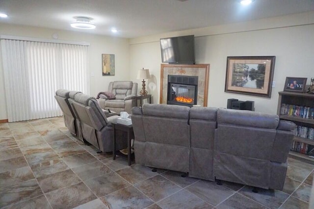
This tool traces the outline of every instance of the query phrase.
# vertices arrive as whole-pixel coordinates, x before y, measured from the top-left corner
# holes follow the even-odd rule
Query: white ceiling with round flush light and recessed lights
[[[134,38],[313,10],[314,0],[0,0],[8,15],[0,23]],[[76,16],[93,18],[96,29],[72,28]]]

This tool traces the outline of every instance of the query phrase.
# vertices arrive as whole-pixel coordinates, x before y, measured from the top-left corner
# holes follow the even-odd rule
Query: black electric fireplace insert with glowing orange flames
[[[197,76],[168,75],[167,104],[197,104]]]

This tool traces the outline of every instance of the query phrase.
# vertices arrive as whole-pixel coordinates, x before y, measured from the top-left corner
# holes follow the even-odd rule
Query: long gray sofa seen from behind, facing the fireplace
[[[135,162],[283,189],[295,124],[247,110],[144,104],[131,110]]]

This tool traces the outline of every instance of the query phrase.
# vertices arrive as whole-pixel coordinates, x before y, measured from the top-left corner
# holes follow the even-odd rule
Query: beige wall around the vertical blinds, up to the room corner
[[[96,97],[98,92],[106,91],[108,83],[111,80],[130,79],[128,39],[66,30],[54,30],[42,27],[0,24],[0,35],[52,39],[52,34],[54,33],[58,34],[59,40],[90,43],[90,94],[92,96]],[[115,76],[102,76],[102,53],[115,54]],[[7,112],[4,93],[3,66],[0,59],[0,120],[2,119],[7,119]]]

